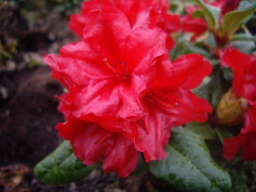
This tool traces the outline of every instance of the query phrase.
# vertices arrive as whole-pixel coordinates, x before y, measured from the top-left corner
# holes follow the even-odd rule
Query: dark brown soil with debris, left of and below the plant
[[[33,176],[35,164],[62,141],[55,126],[64,121],[55,98],[63,87],[50,77],[42,55],[58,53],[76,37],[67,28],[69,10],[40,4],[31,10],[6,2],[0,0],[0,192],[178,192],[149,172],[123,179],[98,168],[84,180],[62,186],[43,184]],[[232,162],[229,168],[240,191],[255,191],[256,173],[250,164]]]

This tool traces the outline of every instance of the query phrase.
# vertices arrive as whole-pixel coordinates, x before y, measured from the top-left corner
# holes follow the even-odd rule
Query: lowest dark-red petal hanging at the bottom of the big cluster
[[[128,177],[136,166],[139,152],[133,143],[121,134],[115,134],[114,146],[103,162],[106,173],[117,172],[120,177]]]

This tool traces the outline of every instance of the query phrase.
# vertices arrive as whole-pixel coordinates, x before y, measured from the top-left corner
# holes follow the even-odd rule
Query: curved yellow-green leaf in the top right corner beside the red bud
[[[234,10],[232,12],[228,12],[224,17],[222,32],[223,34],[232,35],[235,30],[239,27],[244,19],[250,17],[253,14],[256,8],[256,1],[253,3],[249,3],[248,1],[242,1],[240,3],[239,10]]]

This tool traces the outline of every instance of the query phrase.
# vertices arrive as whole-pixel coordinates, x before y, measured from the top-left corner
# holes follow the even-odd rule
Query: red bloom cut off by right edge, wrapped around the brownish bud
[[[237,49],[226,49],[221,55],[221,64],[230,67],[234,72],[232,89],[239,98],[248,102],[244,128],[241,134],[232,139],[225,139],[223,155],[226,159],[233,159],[239,147],[243,149],[243,158],[256,159],[256,150],[253,137],[256,134],[256,58],[241,53]]]

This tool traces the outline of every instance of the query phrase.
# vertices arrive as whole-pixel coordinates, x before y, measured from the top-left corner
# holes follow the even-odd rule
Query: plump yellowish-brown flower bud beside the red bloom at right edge
[[[234,90],[230,89],[222,98],[217,107],[217,121],[220,125],[236,125],[244,120],[248,110],[248,101],[238,98]]]

